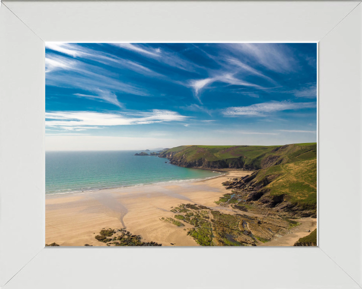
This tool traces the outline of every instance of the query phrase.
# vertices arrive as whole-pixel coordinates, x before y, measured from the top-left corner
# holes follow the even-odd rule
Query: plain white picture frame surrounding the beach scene
[[[360,3],[1,3],[0,287],[361,288]],[[46,41],[318,42],[318,247],[45,248]]]

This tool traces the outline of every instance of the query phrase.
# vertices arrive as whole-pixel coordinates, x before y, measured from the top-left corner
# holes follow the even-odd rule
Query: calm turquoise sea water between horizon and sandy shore
[[[163,158],[134,156],[135,153],[140,151],[46,152],[45,194],[185,182],[220,175],[171,165]]]

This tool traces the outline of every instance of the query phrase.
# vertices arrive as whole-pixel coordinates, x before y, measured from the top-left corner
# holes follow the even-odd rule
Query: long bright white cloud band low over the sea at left
[[[102,113],[94,111],[54,111],[45,113],[48,127],[77,130],[98,128],[99,126],[150,124],[168,121],[185,121],[188,116],[164,109],[150,111],[127,111],[122,113]],[[73,129],[75,128],[75,129]]]

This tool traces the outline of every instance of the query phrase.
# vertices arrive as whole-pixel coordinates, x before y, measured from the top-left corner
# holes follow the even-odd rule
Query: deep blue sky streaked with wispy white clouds
[[[317,44],[46,43],[46,150],[317,139]]]

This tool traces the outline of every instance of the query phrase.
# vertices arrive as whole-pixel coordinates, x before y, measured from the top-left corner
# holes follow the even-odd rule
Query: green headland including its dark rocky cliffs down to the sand
[[[180,146],[159,154],[170,164],[186,168],[254,171],[224,182],[232,193],[220,206],[259,210],[269,215],[316,217],[317,145]],[[228,196],[226,196],[228,195]],[[233,195],[233,197],[231,197]]]

